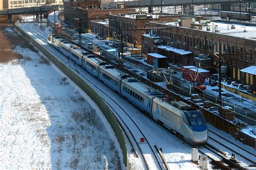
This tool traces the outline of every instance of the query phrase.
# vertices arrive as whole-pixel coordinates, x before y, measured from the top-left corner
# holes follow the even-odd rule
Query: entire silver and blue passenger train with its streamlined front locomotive
[[[59,43],[54,43],[56,39]],[[160,125],[191,144],[206,144],[207,125],[199,110],[195,110],[183,101],[166,98],[162,92],[58,36],[48,35],[48,43]]]

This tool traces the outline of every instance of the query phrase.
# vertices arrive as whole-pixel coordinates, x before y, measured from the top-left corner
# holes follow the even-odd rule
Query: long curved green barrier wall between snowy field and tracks
[[[114,117],[113,113],[110,111],[109,107],[107,107],[106,103],[103,99],[88,85],[85,81],[77,75],[75,72],[71,71],[66,65],[60,62],[57,58],[55,58],[49,51],[44,49],[44,47],[39,44],[35,39],[30,37],[26,32],[24,32],[19,26],[19,21],[15,23],[15,29],[18,30],[26,39],[28,39],[33,45],[37,47],[39,51],[41,51],[51,62],[58,67],[66,76],[68,76],[76,85],[78,85],[99,107],[99,109],[104,114],[107,121],[111,125],[114,134],[117,137],[117,140],[120,144],[120,148],[122,149],[123,153],[123,163],[127,169],[129,169],[129,162],[127,158],[127,148],[125,143],[125,138],[121,127],[119,126],[116,118]]]

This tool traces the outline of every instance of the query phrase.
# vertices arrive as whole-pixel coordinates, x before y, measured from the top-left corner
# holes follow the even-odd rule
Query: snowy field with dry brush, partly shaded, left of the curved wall
[[[39,53],[15,51],[22,59],[0,63],[0,169],[122,168],[90,98]]]

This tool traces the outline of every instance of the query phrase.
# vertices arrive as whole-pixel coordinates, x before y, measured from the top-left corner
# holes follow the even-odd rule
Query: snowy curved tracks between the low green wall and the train
[[[66,65],[68,65],[69,67],[71,67],[75,72],[77,72],[80,76],[82,76],[84,79],[86,79],[86,81],[88,81],[89,83],[91,83],[93,86],[95,86],[101,93],[103,93],[105,95],[105,97],[107,97],[108,99],[104,99],[102,98],[105,103],[111,108],[111,110],[113,111],[115,117],[117,118],[117,120],[119,121],[119,124],[122,126],[127,138],[129,139],[132,149],[134,151],[134,153],[136,154],[136,156],[141,155],[142,159],[144,160],[144,165],[146,166],[147,169],[150,169],[150,164],[149,161],[150,159],[147,158],[145,156],[144,153],[149,153],[149,150],[152,152],[151,156],[153,158],[153,160],[155,161],[154,164],[156,165],[156,168],[158,169],[168,169],[168,167],[164,167],[163,162],[161,162],[161,160],[163,160],[163,157],[160,157],[158,155],[157,151],[154,151],[153,147],[150,145],[149,141],[147,140],[146,136],[144,135],[144,133],[140,130],[140,128],[138,127],[138,125],[135,123],[135,121],[130,117],[130,115],[122,108],[122,106],[120,106],[118,103],[116,103],[116,101],[114,101],[110,96],[108,96],[104,91],[102,91],[101,89],[99,89],[98,86],[96,86],[94,83],[92,83],[89,79],[87,79],[86,77],[83,76],[83,74],[81,74],[75,63],[69,61],[69,59],[67,59],[66,57],[60,57],[59,55],[56,55],[56,53],[60,53],[59,51],[57,51],[56,49],[54,49],[53,47],[48,45],[47,42],[47,34],[45,32],[42,32],[41,30],[35,31],[36,28],[35,26],[32,26],[33,29],[29,28],[29,25],[31,23],[28,23],[24,26],[24,28],[28,31],[30,31],[34,36],[36,36],[37,38],[39,38],[40,40],[37,40],[39,43],[42,44],[42,42],[46,43],[46,45],[44,46],[45,49],[47,49],[49,52],[51,52],[55,57],[59,58],[60,60],[62,60],[62,62],[64,62]],[[63,59],[64,58],[64,59]],[[73,63],[73,66],[70,65],[70,63]],[[119,114],[118,111],[116,111],[115,108],[113,108],[111,106],[111,103],[109,100],[112,100],[112,102],[114,102],[119,108],[120,110],[122,110],[123,113],[126,114],[126,119],[124,120],[123,115],[121,116]],[[130,123],[129,126],[127,125],[127,120],[130,119]],[[133,124],[133,125],[132,125]],[[131,127],[133,126],[133,127]],[[134,129],[136,130],[137,133],[134,133]],[[133,132],[132,132],[133,131]],[[138,133],[139,132],[139,133]],[[136,135],[134,135],[136,134]],[[138,142],[138,136],[142,137],[145,139],[145,142]],[[136,138],[137,137],[137,138]],[[132,141],[133,140],[133,141]],[[134,144],[136,146],[134,146]],[[145,147],[145,145],[147,147]],[[152,161],[152,160],[151,160]],[[151,162],[152,165],[152,162]]]

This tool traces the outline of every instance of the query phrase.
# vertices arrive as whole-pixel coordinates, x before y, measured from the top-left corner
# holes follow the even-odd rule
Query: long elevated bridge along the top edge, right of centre
[[[202,5],[202,4],[233,4],[252,3],[255,0],[126,0],[118,2],[103,3],[103,6],[116,8],[117,3],[124,3],[127,8],[155,7],[155,6],[175,6],[175,5]],[[162,4],[162,5],[161,5]]]

